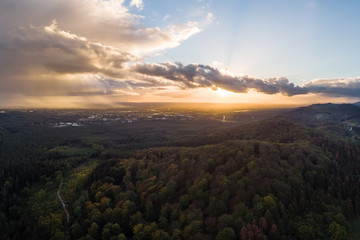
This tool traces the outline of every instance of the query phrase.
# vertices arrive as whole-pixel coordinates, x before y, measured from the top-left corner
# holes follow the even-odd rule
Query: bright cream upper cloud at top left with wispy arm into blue
[[[131,5],[141,7],[142,1],[133,0]],[[203,14],[199,22],[159,28],[146,27],[144,17],[129,13],[123,0],[2,0],[0,35],[18,26],[46,26],[56,19],[61,29],[92,42],[143,54],[178,46],[200,32],[211,20]]]

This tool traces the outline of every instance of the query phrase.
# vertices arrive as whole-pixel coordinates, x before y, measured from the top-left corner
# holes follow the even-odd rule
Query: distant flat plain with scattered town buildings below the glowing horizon
[[[246,123],[275,116],[286,109],[253,110],[239,107],[226,110],[201,108],[129,106],[124,109],[0,109],[0,118],[9,121],[26,120],[31,125],[48,125],[54,128],[92,125],[134,124],[151,121],[218,121]],[[12,119],[12,120],[11,120]]]

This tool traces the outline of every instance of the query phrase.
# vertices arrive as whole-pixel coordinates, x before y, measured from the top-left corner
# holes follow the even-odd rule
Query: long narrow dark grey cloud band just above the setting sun
[[[178,82],[182,88],[208,87],[214,90],[222,88],[236,93],[255,89],[266,94],[282,93],[288,96],[308,93],[306,88],[294,86],[286,78],[261,80],[249,76],[232,76],[208,65],[139,64],[134,67],[134,71],[146,76],[162,77]]]

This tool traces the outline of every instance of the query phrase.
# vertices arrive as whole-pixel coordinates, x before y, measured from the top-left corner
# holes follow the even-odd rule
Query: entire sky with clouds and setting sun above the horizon
[[[360,100],[359,1],[1,0],[0,107]]]

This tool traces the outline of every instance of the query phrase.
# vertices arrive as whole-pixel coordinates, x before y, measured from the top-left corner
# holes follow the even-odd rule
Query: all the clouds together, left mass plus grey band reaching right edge
[[[201,32],[213,15],[203,12],[199,21],[147,27],[130,7],[140,11],[146,6],[141,0],[128,6],[123,0],[1,1],[0,94],[136,99],[151,91],[221,88],[285,96],[360,96],[360,78],[295,86],[285,77],[236,76],[209,65],[147,63],[146,54],[178,46]]]

